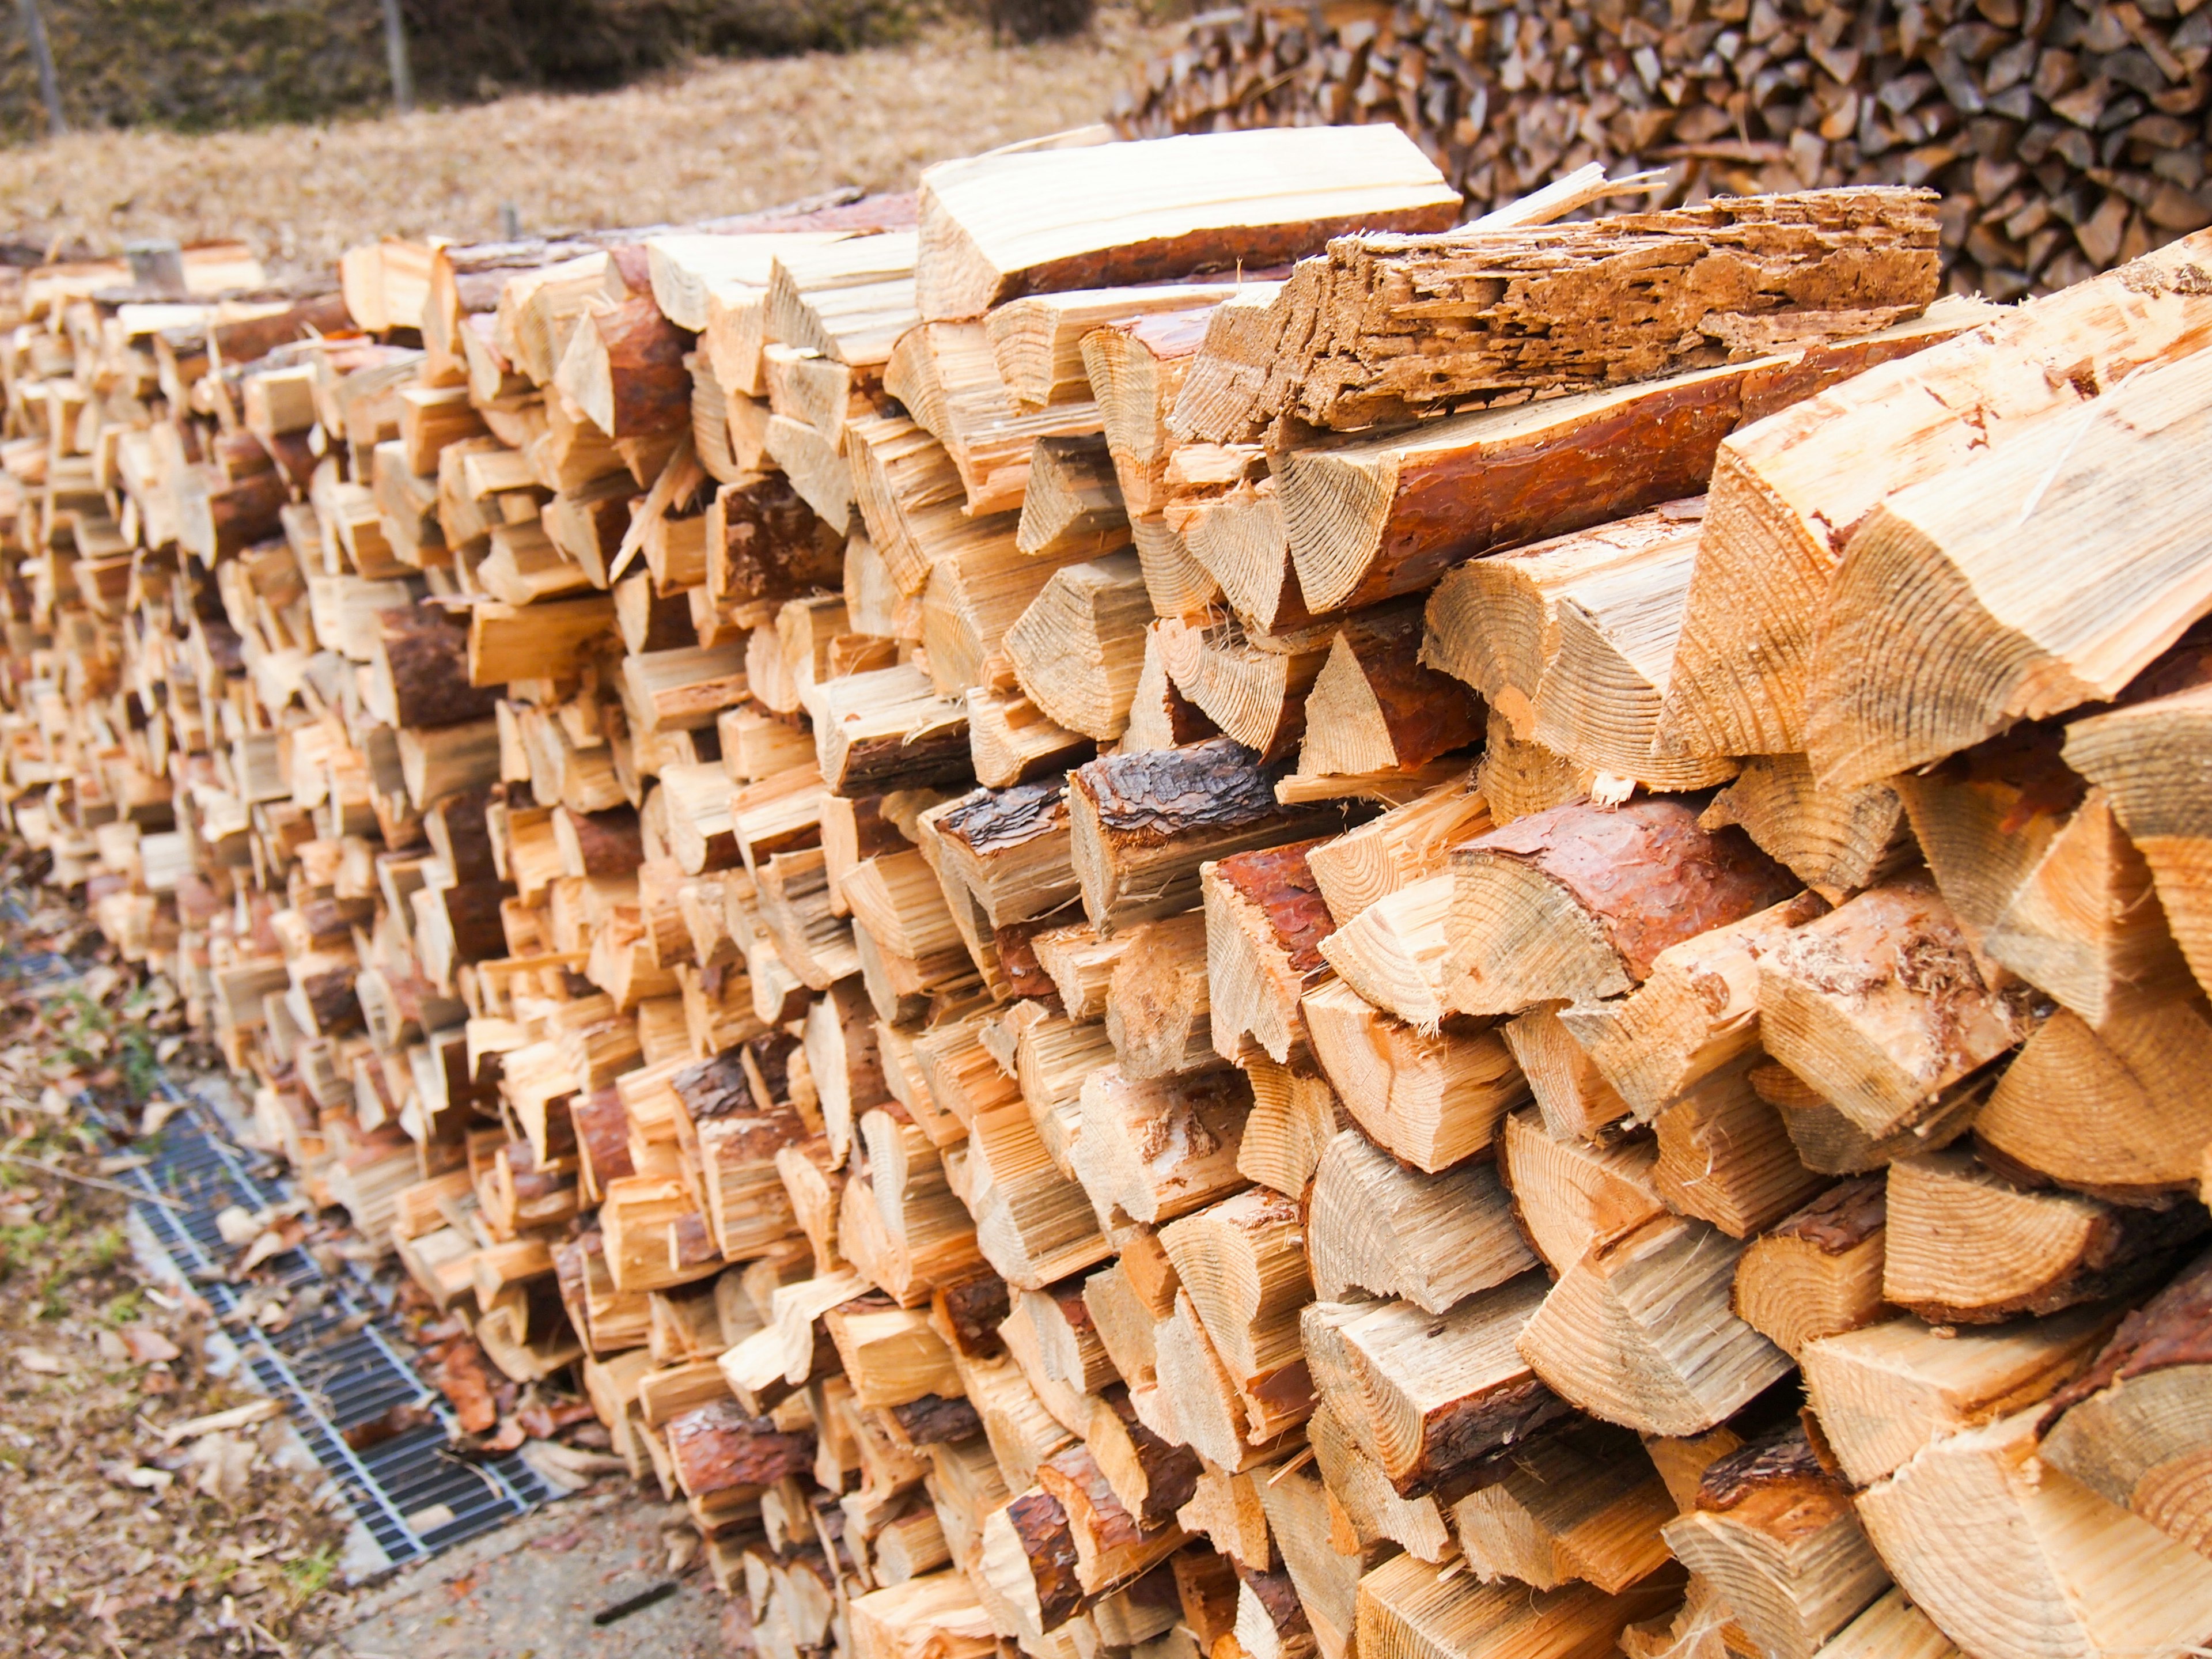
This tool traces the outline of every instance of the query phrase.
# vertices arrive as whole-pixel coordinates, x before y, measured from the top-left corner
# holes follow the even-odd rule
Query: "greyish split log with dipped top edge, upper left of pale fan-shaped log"
[[[1431,1314],[1535,1265],[1493,1166],[1418,1175],[1358,1130],[1321,1155],[1305,1252],[1321,1301],[1402,1296]]]

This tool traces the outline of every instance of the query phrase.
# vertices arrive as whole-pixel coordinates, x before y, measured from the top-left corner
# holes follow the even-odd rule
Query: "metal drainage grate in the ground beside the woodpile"
[[[221,1316],[239,1305],[241,1287],[219,1276],[232,1250],[215,1217],[232,1203],[248,1210],[281,1203],[292,1197],[290,1183],[257,1177],[206,1102],[179,1093],[168,1079],[159,1088],[184,1106],[144,1148],[153,1161],[126,1179],[190,1208],[133,1203],[131,1210]],[[201,1276],[201,1270],[212,1272]],[[385,1566],[436,1555],[560,1495],[513,1453],[467,1462],[447,1451],[451,1413],[403,1358],[383,1323],[385,1310],[365,1307],[305,1250],[270,1259],[268,1270],[294,1294],[319,1287],[321,1301],[281,1332],[248,1327],[237,1336],[239,1349],[261,1387],[290,1405],[292,1427],[345,1493]],[[345,1429],[409,1402],[429,1407],[436,1422],[367,1451],[354,1451],[341,1438]]]

